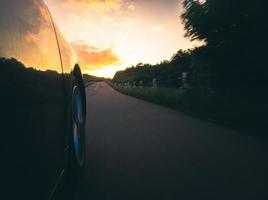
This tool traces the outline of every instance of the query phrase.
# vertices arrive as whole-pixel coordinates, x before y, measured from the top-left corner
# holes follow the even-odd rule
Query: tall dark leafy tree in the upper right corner
[[[186,37],[207,43],[213,87],[224,93],[262,87],[268,74],[266,4],[261,0],[185,0]],[[261,83],[261,84],[260,84]],[[236,93],[236,91],[233,91]]]

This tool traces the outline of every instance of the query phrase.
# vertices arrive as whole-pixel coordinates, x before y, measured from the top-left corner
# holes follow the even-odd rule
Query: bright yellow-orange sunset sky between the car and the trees
[[[182,0],[45,0],[83,73],[112,78],[197,46],[184,38]]]

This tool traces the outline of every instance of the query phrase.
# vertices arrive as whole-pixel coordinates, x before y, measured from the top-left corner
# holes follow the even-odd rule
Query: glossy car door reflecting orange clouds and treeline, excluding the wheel
[[[66,98],[43,1],[2,0],[0,40],[1,189],[47,199],[64,173]]]

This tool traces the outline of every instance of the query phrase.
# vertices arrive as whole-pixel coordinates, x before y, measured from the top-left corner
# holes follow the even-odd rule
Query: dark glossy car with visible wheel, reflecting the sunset
[[[54,199],[85,168],[82,72],[42,0],[0,4],[0,199]]]

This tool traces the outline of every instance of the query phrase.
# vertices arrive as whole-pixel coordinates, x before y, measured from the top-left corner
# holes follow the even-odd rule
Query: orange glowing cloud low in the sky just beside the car
[[[82,41],[73,42],[72,47],[77,53],[83,70],[96,70],[106,66],[118,66],[121,63],[120,58],[114,54],[112,48],[100,50]]]

